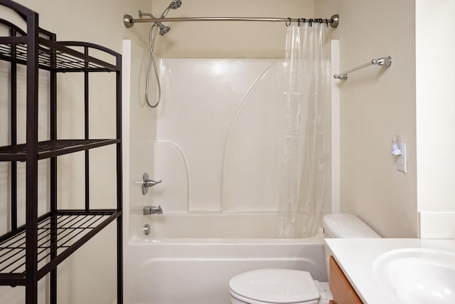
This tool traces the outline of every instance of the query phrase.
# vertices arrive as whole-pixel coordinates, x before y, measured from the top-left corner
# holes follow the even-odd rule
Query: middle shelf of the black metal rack
[[[119,142],[120,140],[47,140],[45,142],[38,142],[38,159],[57,157],[63,154],[113,145]],[[0,147],[0,161],[24,162],[26,156],[26,144]]]

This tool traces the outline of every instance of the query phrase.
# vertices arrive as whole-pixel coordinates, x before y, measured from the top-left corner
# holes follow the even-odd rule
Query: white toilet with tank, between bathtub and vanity
[[[352,214],[327,214],[322,221],[325,238],[380,238]],[[314,281],[308,271],[291,269],[240,273],[230,279],[229,289],[231,304],[326,304],[331,299],[328,283]]]

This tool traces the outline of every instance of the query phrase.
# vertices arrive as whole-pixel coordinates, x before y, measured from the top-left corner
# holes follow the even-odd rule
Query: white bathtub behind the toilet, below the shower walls
[[[314,279],[326,281],[323,236],[272,239],[276,231],[270,226],[277,224],[276,218],[272,214],[146,217],[151,219],[152,237],[139,233],[125,246],[125,303],[227,304],[230,278],[257,268],[306,270]],[[238,238],[244,229],[254,239]]]

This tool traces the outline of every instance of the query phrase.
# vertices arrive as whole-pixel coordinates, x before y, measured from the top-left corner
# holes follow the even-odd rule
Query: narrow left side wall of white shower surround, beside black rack
[[[144,172],[151,173],[155,142],[155,111],[146,105],[144,85],[148,54],[146,48],[134,41],[123,41],[122,59],[122,150],[123,150],[123,221],[127,228],[127,242],[141,229],[144,205],[150,205],[149,196],[142,195]],[[125,252],[125,259],[127,259]]]

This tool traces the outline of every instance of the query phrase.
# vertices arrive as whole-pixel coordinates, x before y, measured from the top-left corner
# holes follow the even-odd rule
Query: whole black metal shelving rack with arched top
[[[0,285],[24,285],[26,303],[38,303],[38,281],[50,274],[50,303],[57,303],[57,271],[80,246],[108,224],[117,221],[117,303],[123,303],[122,291],[122,86],[119,53],[92,43],[56,41],[54,33],[38,26],[38,14],[20,4],[0,0],[0,10],[15,11],[26,28],[0,19],[0,61],[10,63],[10,145],[0,147],[0,162],[10,162],[10,229],[0,236]],[[92,55],[95,53],[96,55]],[[26,142],[17,142],[18,65],[26,67]],[[38,70],[49,72],[49,139],[38,141]],[[58,138],[57,74],[84,73],[85,136],[82,139]],[[115,73],[116,137],[89,137],[89,75]],[[114,88],[114,87],[113,87]],[[90,206],[90,150],[116,147],[117,201],[112,209]],[[57,159],[60,155],[85,152],[85,204],[77,210],[58,209]],[[38,201],[38,160],[49,161],[49,201]],[[17,162],[26,163],[26,224],[18,226]],[[38,204],[48,204],[48,212],[38,214]]]

